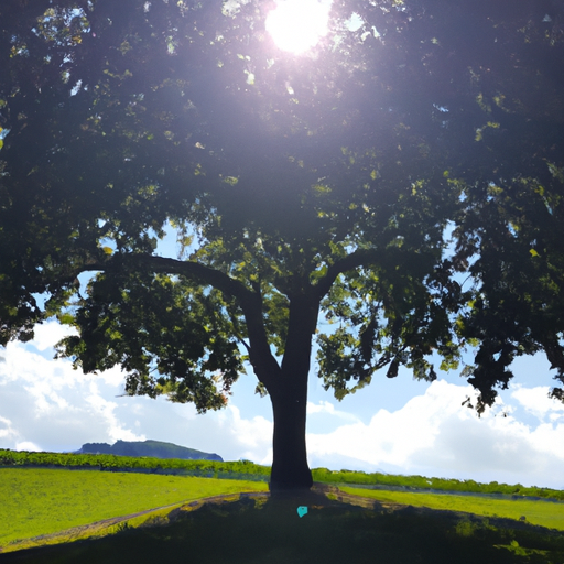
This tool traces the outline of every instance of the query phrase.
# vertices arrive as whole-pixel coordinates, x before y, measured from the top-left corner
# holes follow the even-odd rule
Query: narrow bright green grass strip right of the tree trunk
[[[340,489],[355,496],[413,507],[465,511],[478,516],[505,517],[509,519],[519,519],[524,516],[531,524],[540,524],[564,531],[564,503],[562,502],[494,499],[479,496],[451,496],[444,494],[412,494],[348,487],[341,487]]]

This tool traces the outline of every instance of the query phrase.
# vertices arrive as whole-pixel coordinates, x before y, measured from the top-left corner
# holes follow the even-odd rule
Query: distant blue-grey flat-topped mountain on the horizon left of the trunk
[[[153,458],[224,462],[217,454],[203,453],[202,451],[161,441],[118,441],[113,445],[108,443],[85,443],[74,454],[115,454],[117,456],[151,456]]]

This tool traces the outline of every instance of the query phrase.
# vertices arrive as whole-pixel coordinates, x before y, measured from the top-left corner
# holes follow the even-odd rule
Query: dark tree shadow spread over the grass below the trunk
[[[300,517],[299,506],[307,513]],[[564,563],[564,533],[424,508],[373,509],[324,495],[267,496],[174,510],[167,524],[0,555],[65,563]]]

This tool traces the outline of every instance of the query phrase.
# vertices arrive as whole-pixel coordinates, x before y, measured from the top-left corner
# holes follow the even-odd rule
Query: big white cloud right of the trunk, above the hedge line
[[[392,413],[379,410],[369,424],[310,434],[311,458],[332,467],[343,458],[401,474],[563,487],[564,425],[529,427],[498,401],[480,419],[460,404],[471,387],[433,382],[423,395]],[[541,413],[541,412],[540,412]],[[336,468],[335,468],[336,469]]]

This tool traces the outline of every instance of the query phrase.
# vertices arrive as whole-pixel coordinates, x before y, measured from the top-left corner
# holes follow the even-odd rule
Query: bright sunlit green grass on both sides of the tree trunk
[[[485,517],[519,519],[543,527],[564,530],[564,503],[532,500],[508,500],[477,496],[456,496],[386,491],[341,486],[347,494],[438,510],[464,511]],[[65,470],[43,468],[0,469],[0,547],[22,549],[35,541],[10,545],[17,540],[58,533],[89,525],[105,519],[117,518],[160,508],[176,506],[204,497],[267,491],[265,482],[166,476],[96,470]],[[235,498],[237,499],[237,498]],[[166,516],[171,507],[151,514],[153,519]],[[130,518],[128,524],[137,527],[149,516]],[[302,520],[300,520],[302,527]],[[88,535],[116,532],[120,524],[105,525],[102,531],[88,530]],[[78,538],[65,533],[48,542],[67,542]],[[83,533],[80,533],[83,534]],[[83,538],[83,536],[80,536]],[[41,541],[43,543],[45,541]]]

